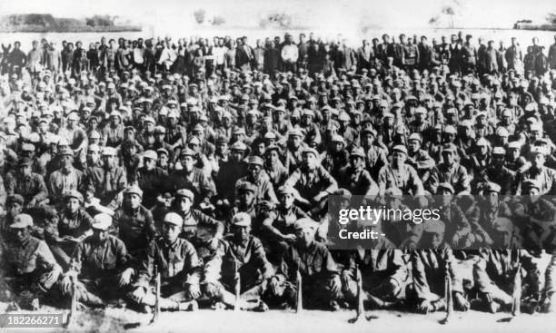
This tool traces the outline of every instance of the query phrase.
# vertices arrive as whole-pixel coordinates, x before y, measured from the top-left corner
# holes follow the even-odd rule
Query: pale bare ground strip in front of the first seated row
[[[5,304],[0,304],[4,312]],[[25,311],[22,311],[24,313]],[[67,310],[43,307],[39,313]],[[556,314],[521,314],[511,318],[510,313],[489,314],[478,311],[455,312],[445,325],[440,321],[445,313],[427,316],[398,311],[367,311],[370,320],[351,324],[355,311],[326,312],[306,310],[301,314],[271,310],[264,313],[214,311],[201,309],[195,312],[162,312],[154,325],[147,325],[152,315],[138,314],[130,309],[84,310],[79,314],[74,328],[0,328],[0,332],[556,332]],[[510,319],[511,318],[511,319]],[[141,323],[136,328],[128,328]]]

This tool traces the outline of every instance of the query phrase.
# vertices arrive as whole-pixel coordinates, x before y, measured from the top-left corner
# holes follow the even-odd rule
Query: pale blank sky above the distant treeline
[[[454,0],[0,0],[0,13],[50,13],[64,17],[93,14],[125,15],[144,24],[172,25],[191,21],[194,9],[223,15],[228,24],[250,25],[271,10],[302,17],[313,27],[333,24],[376,23],[383,27],[423,27]],[[554,0],[459,0],[455,25],[462,27],[511,27],[518,19],[543,21],[556,13]]]

